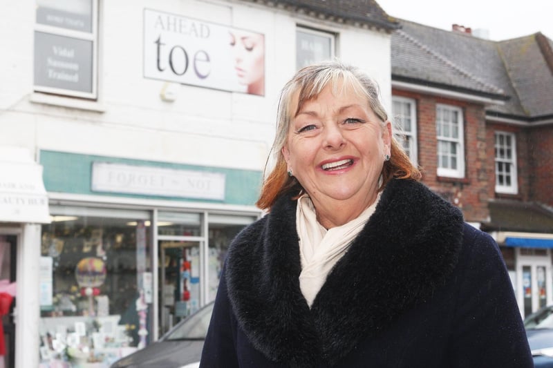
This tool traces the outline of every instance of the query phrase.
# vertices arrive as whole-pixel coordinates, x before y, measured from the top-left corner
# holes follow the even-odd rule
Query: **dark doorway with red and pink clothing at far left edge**
[[[17,235],[3,235],[0,229],[0,318],[3,327],[1,348],[5,352],[0,359],[4,367],[15,367],[15,279],[17,275]],[[8,294],[8,295],[6,295]],[[8,304],[9,303],[9,304]]]

